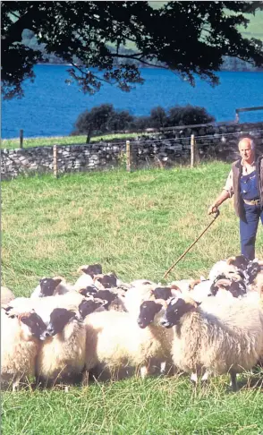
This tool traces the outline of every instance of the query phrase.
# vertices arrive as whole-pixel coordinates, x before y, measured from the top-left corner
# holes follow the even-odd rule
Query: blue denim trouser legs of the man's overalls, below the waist
[[[244,209],[246,222],[240,220],[241,250],[247,259],[254,260],[259,217],[263,223],[263,212],[259,206],[254,205],[244,204]]]

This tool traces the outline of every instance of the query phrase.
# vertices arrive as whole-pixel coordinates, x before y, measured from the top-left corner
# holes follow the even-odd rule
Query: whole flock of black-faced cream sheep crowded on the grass
[[[74,285],[40,279],[30,298],[1,287],[2,386],[184,371],[194,382],[229,373],[236,390],[236,373],[263,358],[263,261],[231,257],[208,279],[165,286],[79,271]]]

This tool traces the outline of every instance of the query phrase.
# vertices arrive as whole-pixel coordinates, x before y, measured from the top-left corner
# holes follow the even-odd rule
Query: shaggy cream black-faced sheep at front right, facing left
[[[263,352],[262,312],[252,304],[235,301],[225,306],[225,316],[202,311],[197,303],[173,298],[161,320],[174,327],[173,361],[182,371],[194,374],[231,375],[237,389],[236,373],[250,370]]]

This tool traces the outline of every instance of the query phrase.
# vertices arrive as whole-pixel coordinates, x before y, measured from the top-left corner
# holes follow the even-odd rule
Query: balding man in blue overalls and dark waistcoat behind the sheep
[[[253,260],[259,218],[263,224],[263,156],[255,161],[255,144],[250,138],[243,138],[238,148],[241,158],[233,162],[225,187],[208,214],[216,213],[222,202],[234,195],[234,209],[240,218],[242,254]]]

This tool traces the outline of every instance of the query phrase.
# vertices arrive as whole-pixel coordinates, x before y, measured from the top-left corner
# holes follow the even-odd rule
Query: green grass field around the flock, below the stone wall
[[[124,281],[161,280],[208,226],[207,209],[229,165],[19,178],[2,182],[2,285],[30,295],[43,276],[74,282],[81,264],[100,262]],[[229,200],[168,280],[208,275],[239,253],[238,219]],[[257,255],[263,258],[259,228]],[[4,435],[175,435],[263,433],[262,389],[247,374],[232,393],[228,377],[193,388],[188,377],[91,383],[5,392]],[[261,372],[262,379],[262,372]],[[251,381],[250,383],[249,380]]]

